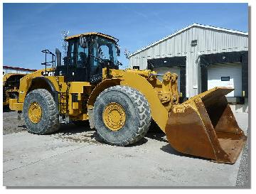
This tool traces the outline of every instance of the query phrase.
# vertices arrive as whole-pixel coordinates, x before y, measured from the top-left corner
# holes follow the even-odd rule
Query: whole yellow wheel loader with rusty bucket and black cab
[[[43,50],[45,68],[23,77],[18,99],[9,101],[28,131],[48,134],[60,123],[89,120],[107,144],[127,146],[153,119],[177,151],[235,163],[247,137],[225,98],[233,89],[215,87],[180,104],[175,73],[119,70],[117,38],[83,33],[65,41],[64,64],[58,49]]]

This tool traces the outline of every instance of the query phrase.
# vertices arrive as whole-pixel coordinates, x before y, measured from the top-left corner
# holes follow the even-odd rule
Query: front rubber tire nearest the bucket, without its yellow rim
[[[107,104],[120,104],[126,115],[124,126],[112,131],[105,125],[102,114]],[[93,108],[93,119],[97,134],[107,144],[127,146],[144,137],[149,130],[151,113],[149,102],[144,95],[132,87],[114,86],[104,90],[96,99]]]

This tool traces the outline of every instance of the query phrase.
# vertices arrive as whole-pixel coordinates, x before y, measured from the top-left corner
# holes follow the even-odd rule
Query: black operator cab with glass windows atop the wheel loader
[[[64,65],[57,65],[56,75],[64,75],[65,82],[102,80],[102,68],[118,69],[119,46],[117,38],[102,33],[85,33],[65,38],[68,52]],[[57,55],[58,63],[58,55]]]

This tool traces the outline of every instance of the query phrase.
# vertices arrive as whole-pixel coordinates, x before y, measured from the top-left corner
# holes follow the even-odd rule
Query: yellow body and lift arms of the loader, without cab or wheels
[[[179,99],[176,74],[166,72],[161,82],[156,78],[156,72],[151,70],[110,70],[111,78],[107,78],[106,68],[102,71],[103,79],[98,85],[90,85],[90,82],[64,82],[63,76],[43,76],[44,70],[32,72],[21,79],[18,99],[10,100],[10,108],[22,111],[22,104],[28,92],[39,88],[49,88],[48,82],[50,82],[58,92],[58,99],[63,103],[59,107],[60,114],[68,113],[72,119],[87,120],[90,113],[82,112],[82,109],[93,109],[97,96],[103,90],[114,85],[126,85],[142,92],[151,104],[151,116],[160,128],[165,130],[169,109],[172,104],[178,104]],[[38,77],[43,77],[43,80],[36,79],[35,81]],[[72,95],[77,96],[77,102],[72,102]],[[84,95],[88,95],[88,99],[85,99]],[[67,99],[68,103],[65,103]],[[82,101],[85,100],[87,107],[82,107]]]

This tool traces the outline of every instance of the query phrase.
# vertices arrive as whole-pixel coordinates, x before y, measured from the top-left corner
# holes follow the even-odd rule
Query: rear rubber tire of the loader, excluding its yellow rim
[[[31,122],[28,117],[28,109],[33,102],[38,102],[42,109],[41,120],[38,123]],[[45,89],[37,89],[28,93],[23,104],[23,118],[27,130],[33,134],[50,134],[59,129],[58,107],[53,96]]]

